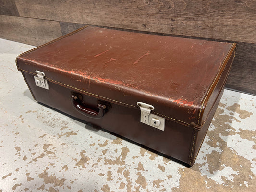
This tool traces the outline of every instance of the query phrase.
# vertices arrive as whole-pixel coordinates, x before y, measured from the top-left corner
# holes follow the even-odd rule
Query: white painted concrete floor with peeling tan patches
[[[255,192],[256,96],[225,90],[186,168],[32,99],[0,39],[0,192]]]

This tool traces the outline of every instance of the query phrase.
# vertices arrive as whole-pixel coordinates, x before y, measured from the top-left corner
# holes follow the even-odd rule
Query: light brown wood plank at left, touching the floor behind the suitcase
[[[59,22],[0,15],[0,38],[39,46],[60,36]]]

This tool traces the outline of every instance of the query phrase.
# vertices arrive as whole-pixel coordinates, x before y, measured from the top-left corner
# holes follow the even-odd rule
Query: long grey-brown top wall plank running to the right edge
[[[256,43],[255,0],[15,2],[24,17]]]

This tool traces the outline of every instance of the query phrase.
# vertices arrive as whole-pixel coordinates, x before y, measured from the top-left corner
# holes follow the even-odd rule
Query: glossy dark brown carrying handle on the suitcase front
[[[104,116],[105,114],[104,109],[106,109],[105,105],[102,105],[99,103],[97,106],[99,111],[97,112],[91,108],[86,108],[85,105],[82,103],[82,101],[79,100],[78,96],[71,94],[70,97],[71,97],[74,108],[81,114],[85,115],[86,117],[99,119]]]

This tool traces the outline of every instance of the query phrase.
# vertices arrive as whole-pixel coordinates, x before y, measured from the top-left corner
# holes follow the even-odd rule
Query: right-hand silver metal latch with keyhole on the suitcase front
[[[142,102],[137,102],[137,105],[140,107],[140,122],[164,131],[165,119],[151,113],[154,106]]]

